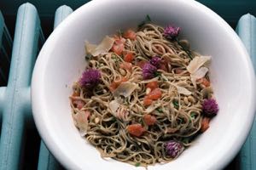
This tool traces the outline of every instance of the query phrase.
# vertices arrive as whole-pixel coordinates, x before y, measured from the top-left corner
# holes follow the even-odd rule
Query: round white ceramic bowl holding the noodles
[[[184,0],[94,0],[73,12],[50,35],[32,75],[32,111],[38,131],[68,169],[144,169],[105,161],[73,125],[68,96],[84,71],[84,40],[100,42],[135,27],[146,14],[162,26],[181,26],[181,37],[212,55],[211,80],[220,111],[211,127],[177,160],[148,169],[220,169],[240,150],[254,116],[254,74],[246,49],[230,26],[209,8]]]

